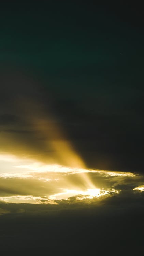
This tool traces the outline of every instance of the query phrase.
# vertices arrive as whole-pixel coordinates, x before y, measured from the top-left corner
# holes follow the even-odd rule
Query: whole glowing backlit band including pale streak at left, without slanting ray
[[[65,202],[68,205],[75,198],[77,203],[92,204],[124,191],[144,191],[141,185],[144,177],[138,173],[45,164],[4,153],[0,155],[0,162],[4,170],[5,165],[9,167],[9,171],[0,173],[3,203],[59,205]]]

